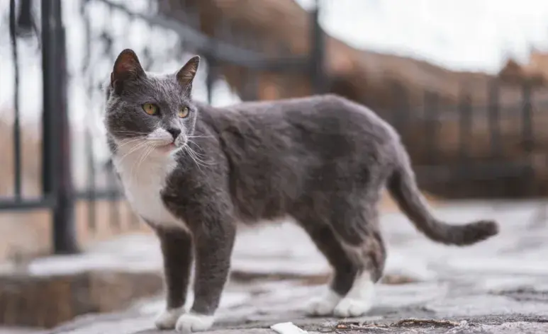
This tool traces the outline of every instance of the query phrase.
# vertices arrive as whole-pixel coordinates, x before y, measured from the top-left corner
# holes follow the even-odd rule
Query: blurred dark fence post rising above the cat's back
[[[311,13],[311,78],[313,93],[321,94],[327,91],[325,77],[325,33],[320,26],[320,1],[315,0]]]

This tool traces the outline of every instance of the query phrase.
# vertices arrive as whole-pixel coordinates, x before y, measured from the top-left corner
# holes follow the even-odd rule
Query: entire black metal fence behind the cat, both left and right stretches
[[[77,20],[84,31],[84,52],[82,63],[76,73],[67,70],[67,38],[62,16],[61,0],[40,1],[40,29],[35,25],[38,16],[33,16],[31,8],[38,8],[38,1],[10,0],[9,28],[13,50],[14,74],[14,117],[13,117],[13,195],[0,197],[0,210],[47,208],[53,217],[53,245],[55,253],[73,253],[78,250],[74,229],[74,207],[76,202],[86,203],[86,224],[96,229],[98,219],[96,205],[106,201],[109,205],[108,220],[112,226],[121,224],[121,219],[130,219],[138,224],[134,216],[123,215],[125,202],[106,161],[97,154],[96,134],[85,127],[84,137],[76,138],[84,142],[83,159],[86,178],[83,184],[74,184],[74,169],[71,168],[72,124],[69,123],[67,87],[77,80],[85,91],[85,100],[79,107],[86,113],[100,113],[104,100],[100,86],[111,71],[116,55],[125,47],[132,47],[142,59],[147,70],[162,70],[169,62],[181,62],[181,54],[192,52],[201,54],[205,59],[205,71],[201,70],[203,91],[210,103],[215,102],[218,84],[223,78],[220,69],[234,65],[241,69],[242,87],[237,91],[242,100],[257,98],[257,73],[295,73],[310,79],[313,92],[323,93],[330,90],[330,78],[324,70],[325,33],[318,21],[320,8],[316,6],[311,16],[310,52],[305,56],[296,56],[281,48],[278,52],[264,52],[254,47],[254,41],[231,33],[225,22],[219,22],[219,28],[213,35],[206,35],[198,28],[200,16],[198,9],[187,1],[113,1],[81,0]],[[32,6],[34,4],[34,6]],[[173,4],[177,4],[174,6]],[[160,6],[161,5],[161,6]],[[162,7],[164,6],[164,7]],[[169,7],[165,7],[169,6]],[[169,12],[167,16],[165,13]],[[99,22],[97,22],[99,21]],[[19,64],[17,42],[23,38],[24,31],[40,30],[40,50],[42,57],[43,80],[43,118],[41,134],[42,190],[38,198],[29,198],[21,186],[21,124],[19,115]],[[36,33],[38,37],[38,33]],[[133,43],[132,36],[138,35]],[[136,41],[136,42],[135,42]],[[160,41],[160,42],[159,42]],[[74,41],[71,41],[74,42]],[[517,180],[518,183],[533,185],[535,180],[535,161],[531,154],[535,149],[535,116],[546,113],[542,105],[532,103],[533,87],[522,85],[522,98],[518,105],[505,107],[499,103],[498,82],[486,87],[488,103],[472,105],[469,95],[462,94],[453,105],[442,105],[436,93],[425,92],[420,112],[409,102],[409,92],[405,86],[395,84],[392,98],[396,107],[378,112],[391,122],[401,133],[403,142],[408,144],[413,158],[416,158],[417,172],[421,185],[427,190],[443,192],[447,187],[463,187],[463,193],[470,196],[466,185],[485,183],[489,192],[474,190],[478,195],[493,195],[491,183],[502,183],[501,187],[514,187],[501,180]],[[99,101],[99,102],[98,102]],[[369,104],[369,101],[359,101]],[[548,101],[547,101],[548,102]],[[371,103],[371,107],[375,107]],[[548,103],[546,105],[548,107]],[[536,110],[535,110],[536,109]],[[377,111],[377,110],[376,110]],[[336,112],[336,111],[334,111]],[[503,159],[502,151],[508,150],[503,138],[503,123],[510,122],[512,138],[510,146],[519,146],[516,159]],[[515,125],[520,122],[520,125]],[[450,126],[447,127],[447,124]],[[474,127],[485,124],[486,142],[474,139]],[[515,132],[515,129],[519,129]],[[448,136],[454,140],[441,138]],[[471,140],[476,142],[471,142]],[[422,140],[422,144],[417,144]],[[483,139],[482,139],[483,140]],[[441,144],[440,144],[441,143]],[[443,144],[446,143],[446,144]],[[449,143],[449,144],[447,144]],[[478,146],[487,146],[486,156],[475,156]],[[512,146],[513,147],[513,146]],[[485,152],[483,152],[485,153]],[[491,187],[491,188],[490,188]],[[468,190],[466,190],[466,189]],[[526,187],[518,190],[499,189],[501,194],[519,195]],[[475,188],[477,189],[477,188]],[[525,191],[527,192],[527,191]],[[454,194],[454,192],[452,192]],[[530,192],[528,192],[530,193]]]

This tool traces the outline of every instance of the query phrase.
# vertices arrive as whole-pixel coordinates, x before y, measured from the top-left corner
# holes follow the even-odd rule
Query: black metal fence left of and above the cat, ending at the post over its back
[[[174,3],[177,1],[174,1]],[[142,58],[145,69],[161,69],[162,65],[171,59],[181,62],[183,52],[201,54],[206,64],[206,93],[211,103],[214,98],[215,85],[220,80],[217,65],[234,64],[247,69],[246,87],[241,91],[246,99],[256,96],[253,91],[254,71],[291,71],[305,74],[313,78],[315,87],[322,86],[322,39],[323,32],[318,24],[319,8],[309,14],[313,21],[311,43],[313,52],[306,57],[292,56],[291,54],[265,54],[260,50],[242,47],[235,42],[237,36],[227,35],[220,31],[220,36],[208,36],[201,33],[196,8],[184,6],[170,8],[179,11],[184,20],[174,20],[157,11],[157,1],[110,1],[110,0],[82,0],[80,2],[80,18],[84,23],[85,50],[81,72],[77,76],[84,78],[86,89],[87,110],[96,112],[97,101],[104,100],[101,95],[101,84],[104,83],[111,70],[114,59],[120,50],[128,45],[125,40],[133,29],[143,29],[150,33],[148,38],[140,35],[141,45],[130,45]],[[139,3],[139,4],[136,4]],[[121,207],[125,206],[121,199],[121,191],[107,166],[106,161],[98,161],[94,152],[96,138],[89,127],[84,131],[86,151],[87,180],[85,185],[78,187],[73,184],[71,169],[71,137],[69,126],[69,110],[67,107],[67,38],[60,0],[42,0],[40,6],[36,1],[10,0],[10,35],[13,50],[14,81],[14,122],[13,122],[13,183],[14,192],[11,197],[0,197],[0,209],[28,210],[47,208],[52,210],[53,217],[53,247],[55,253],[74,253],[78,250],[77,238],[74,229],[74,206],[79,200],[86,201],[87,224],[89,229],[96,228],[96,202],[107,200],[110,202],[110,224],[120,224]],[[34,6],[33,6],[34,5]],[[21,99],[19,89],[19,57],[17,42],[23,28],[21,18],[28,18],[33,23],[33,8],[40,8],[41,28],[40,42],[43,69],[43,118],[42,118],[42,191],[36,198],[29,198],[22,192],[21,182],[21,124],[19,122],[19,104]],[[99,11],[99,13],[98,13]],[[95,25],[98,17],[104,18],[103,25]],[[24,20],[23,20],[24,21]],[[114,27],[114,22],[123,21],[123,27]],[[221,23],[222,24],[222,23]],[[142,26],[145,26],[143,28]],[[38,29],[36,29],[38,30]],[[35,31],[36,31],[35,30]],[[155,34],[154,34],[155,33]],[[172,41],[167,46],[155,43],[158,35],[169,35]],[[38,36],[37,36],[38,37]],[[286,51],[286,50],[283,50]],[[159,65],[159,66],[155,66]],[[180,64],[179,64],[180,65]],[[203,72],[203,71],[202,71]],[[318,91],[318,90],[317,90]],[[319,91],[318,91],[319,92]],[[99,106],[100,108],[100,106]],[[82,138],[79,138],[82,140]],[[106,168],[104,168],[106,167]],[[101,184],[101,177],[106,178]],[[127,216],[125,217],[127,218]],[[138,223],[136,217],[130,217]]]

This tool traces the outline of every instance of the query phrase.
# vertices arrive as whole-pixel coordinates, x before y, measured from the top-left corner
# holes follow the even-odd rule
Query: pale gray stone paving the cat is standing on
[[[302,311],[325,282],[328,265],[291,223],[241,231],[234,275],[210,333],[274,333],[292,321],[309,333],[548,333],[548,219],[540,202],[460,202],[435,208],[447,221],[493,218],[501,234],[468,248],[442,246],[418,234],[401,214],[382,217],[386,277],[367,316],[306,318]],[[152,236],[128,236],[91,250],[88,262],[159,270]],[[65,261],[65,262],[64,262]],[[82,261],[43,260],[31,270],[77,270]],[[191,301],[189,301],[190,303]],[[121,313],[86,315],[42,333],[158,334],[162,297]],[[17,333],[0,330],[4,333]],[[24,333],[24,332],[21,332]]]

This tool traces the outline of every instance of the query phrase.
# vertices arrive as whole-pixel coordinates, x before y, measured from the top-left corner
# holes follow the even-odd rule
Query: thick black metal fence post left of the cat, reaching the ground
[[[42,0],[43,192],[52,197],[53,250],[77,253],[67,115],[67,59],[60,0]]]

